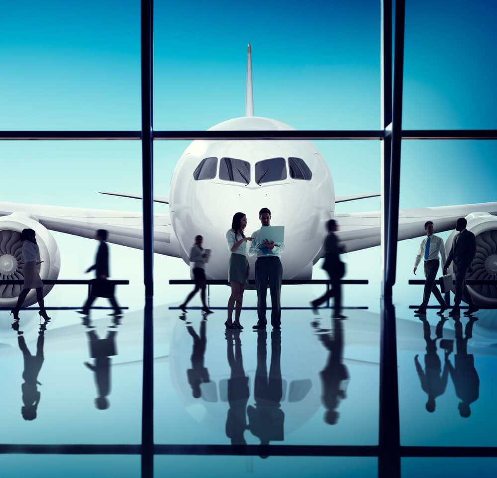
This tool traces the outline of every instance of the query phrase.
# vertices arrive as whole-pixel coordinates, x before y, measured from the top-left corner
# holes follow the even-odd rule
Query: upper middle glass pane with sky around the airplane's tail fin
[[[188,18],[188,28],[177,18]],[[379,127],[378,0],[361,1],[359,9],[319,0],[305,9],[282,0],[255,0],[249,9],[219,0],[172,9],[157,2],[154,20],[156,129],[205,130],[243,117],[248,42],[256,117],[297,129]],[[218,24],[236,25],[229,40],[226,28],[205,35],[205,25]],[[295,35],[303,25],[312,25],[312,34]]]

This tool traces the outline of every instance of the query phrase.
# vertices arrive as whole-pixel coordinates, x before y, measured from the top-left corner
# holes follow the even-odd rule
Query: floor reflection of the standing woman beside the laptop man
[[[228,415],[226,417],[226,436],[231,439],[232,445],[245,445],[244,432],[248,429],[246,408],[250,392],[248,377],[245,375],[242,360],[242,343],[240,332],[226,332],[228,364],[231,376],[228,379]],[[233,352],[235,342],[235,352]]]

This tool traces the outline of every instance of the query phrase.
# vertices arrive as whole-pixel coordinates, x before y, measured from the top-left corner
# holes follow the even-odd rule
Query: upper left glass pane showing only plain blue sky
[[[121,7],[4,5],[0,129],[140,129],[140,2]]]

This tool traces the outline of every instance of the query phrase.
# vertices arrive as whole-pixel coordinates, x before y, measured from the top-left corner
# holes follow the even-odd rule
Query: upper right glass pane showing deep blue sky
[[[406,1],[404,129],[497,127],[494,32],[493,0]]]

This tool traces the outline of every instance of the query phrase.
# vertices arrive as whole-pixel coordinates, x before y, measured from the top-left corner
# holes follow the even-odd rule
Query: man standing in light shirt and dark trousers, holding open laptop
[[[259,211],[259,219],[262,226],[270,226],[271,211],[268,208],[262,208]],[[266,297],[267,285],[271,293],[271,325],[273,328],[281,326],[281,280],[283,279],[283,267],[280,257],[285,250],[285,244],[275,244],[268,241],[267,238],[261,237],[260,229],[252,234],[252,244],[247,253],[249,256],[257,254],[255,262],[255,286],[257,288],[257,325],[254,329],[265,329],[266,319]]]

